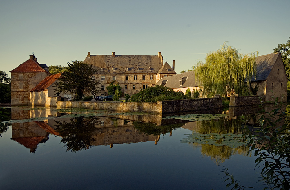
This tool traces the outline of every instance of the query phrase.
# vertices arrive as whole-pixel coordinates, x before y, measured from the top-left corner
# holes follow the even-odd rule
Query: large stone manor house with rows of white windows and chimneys
[[[161,52],[158,55],[90,55],[88,52],[84,63],[95,66],[95,77],[101,80],[100,93],[95,96],[108,95],[106,87],[110,83],[119,83],[125,94],[133,95],[140,89],[154,86],[159,77],[176,72],[166,62],[163,64]]]

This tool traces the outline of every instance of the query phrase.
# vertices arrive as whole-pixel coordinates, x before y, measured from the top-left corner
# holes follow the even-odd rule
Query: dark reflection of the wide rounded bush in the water
[[[183,125],[183,123],[173,124],[173,125],[163,125],[157,126],[153,123],[142,123],[139,121],[133,121],[133,125],[136,129],[139,130],[139,133],[144,133],[146,135],[160,135],[166,134],[173,129],[179,128]]]

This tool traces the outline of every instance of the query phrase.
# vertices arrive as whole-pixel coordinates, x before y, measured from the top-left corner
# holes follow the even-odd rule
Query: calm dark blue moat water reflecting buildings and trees
[[[255,158],[235,136],[237,110],[165,118],[55,109],[11,108],[16,122],[0,137],[1,189],[226,189],[223,164],[262,189]]]

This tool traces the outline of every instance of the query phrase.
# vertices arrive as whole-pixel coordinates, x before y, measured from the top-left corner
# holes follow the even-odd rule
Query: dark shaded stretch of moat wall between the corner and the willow
[[[162,113],[209,110],[222,107],[222,98],[198,98],[189,100],[167,100],[162,102]]]

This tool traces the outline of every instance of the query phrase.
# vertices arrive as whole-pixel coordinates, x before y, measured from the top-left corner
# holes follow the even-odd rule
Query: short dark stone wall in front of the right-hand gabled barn
[[[230,107],[236,106],[247,106],[247,105],[258,105],[261,103],[261,100],[265,101],[265,96],[238,96],[232,95],[230,98]]]

